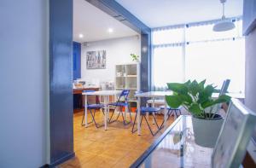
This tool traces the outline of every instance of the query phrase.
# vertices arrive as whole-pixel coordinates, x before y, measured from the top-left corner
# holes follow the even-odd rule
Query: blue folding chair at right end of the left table
[[[108,105],[111,105],[111,106],[114,107],[113,113],[115,112],[116,107],[119,107],[119,114],[118,114],[117,118],[114,119],[114,120],[111,120],[111,119],[113,118],[113,113],[112,113],[112,115],[111,115],[111,117],[110,117],[108,123],[113,123],[114,121],[117,121],[117,120],[119,119],[120,113],[121,113],[121,115],[122,115],[124,125],[128,125],[128,124],[131,123],[131,120],[132,120],[132,119],[131,119],[131,110],[129,109],[129,103],[128,103],[128,96],[129,96],[129,93],[130,93],[130,90],[123,90],[122,93],[121,93],[120,96],[119,96],[118,101],[112,102],[112,103],[109,103],[109,104],[108,104]],[[128,123],[125,123],[125,117],[124,117],[124,113],[122,112],[122,107],[127,107],[128,110],[129,110],[129,113],[130,113],[130,122],[128,122]]]

